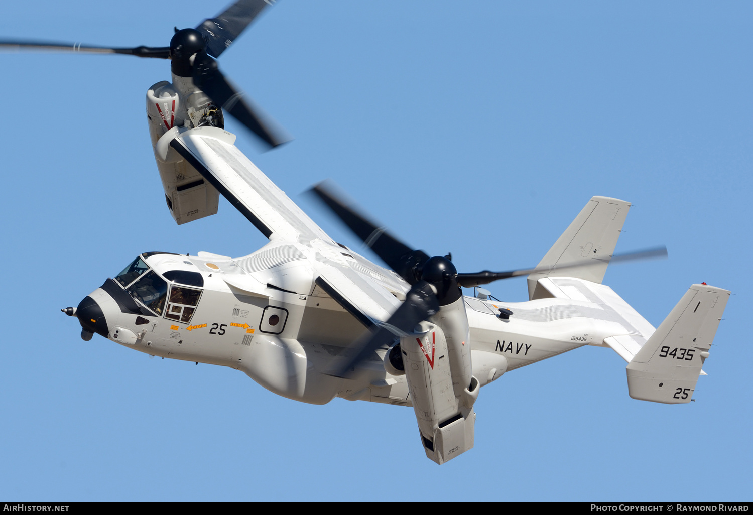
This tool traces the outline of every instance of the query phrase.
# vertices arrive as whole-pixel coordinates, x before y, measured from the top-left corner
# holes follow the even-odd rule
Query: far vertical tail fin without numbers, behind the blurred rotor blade
[[[550,271],[528,276],[529,299],[551,296],[545,288],[537,288],[538,279],[542,277],[569,276],[601,283],[629,209],[630,203],[624,200],[591,197],[581,214],[539,262],[538,267],[550,267]],[[584,267],[569,267],[561,273],[556,270],[557,264],[579,261],[584,262]]]

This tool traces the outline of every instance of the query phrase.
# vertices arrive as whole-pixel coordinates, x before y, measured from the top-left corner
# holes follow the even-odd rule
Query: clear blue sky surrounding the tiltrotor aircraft
[[[0,34],[161,46],[221,2],[3,2]],[[733,291],[697,402],[627,395],[586,347],[505,374],[475,447],[425,458],[413,410],[277,397],[223,367],[84,342],[75,306],[142,251],[234,257],[266,240],[225,200],[176,226],[145,92],[169,64],[3,53],[0,498],[747,500],[751,444],[751,31],[745,2],[300,2],[220,59],[295,140],[237,145],[332,236],[332,178],[461,271],[532,266],[593,195],[634,207],[608,270],[659,325],[694,282]],[[368,254],[368,251],[363,251]],[[526,300],[525,279],[492,285]]]

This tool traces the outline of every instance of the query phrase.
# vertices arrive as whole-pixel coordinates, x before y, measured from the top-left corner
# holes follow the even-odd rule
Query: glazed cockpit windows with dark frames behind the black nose
[[[157,253],[136,257],[115,276],[115,281],[154,315],[189,323],[201,298],[202,290],[198,288],[204,286],[203,276],[191,270],[166,270],[159,274],[145,261],[153,254]]]

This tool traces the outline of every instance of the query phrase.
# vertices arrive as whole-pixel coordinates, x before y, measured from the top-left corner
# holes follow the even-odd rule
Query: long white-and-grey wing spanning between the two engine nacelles
[[[381,325],[400,306],[407,283],[334,242],[233,145],[232,134],[217,127],[179,129],[175,134],[169,146],[264,236],[296,242],[314,251],[311,264],[322,291],[364,325]]]

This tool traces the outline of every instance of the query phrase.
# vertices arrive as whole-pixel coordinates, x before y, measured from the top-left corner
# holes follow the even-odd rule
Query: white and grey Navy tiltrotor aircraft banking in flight
[[[602,285],[608,264],[620,259],[614,248],[630,203],[588,200],[533,269],[458,273],[449,255],[405,245],[320,184],[314,193],[389,269],[331,239],[223,128],[222,108],[270,145],[279,142],[210,57],[263,7],[242,0],[197,29],[176,32],[169,48],[117,51],[172,60],[172,83],[154,84],[146,106],[175,221],[215,214],[222,194],[269,243],[238,258],[136,256],[77,307],[63,309],[78,317],[84,340],[97,333],[149,355],[232,367],[297,401],[413,407],[419,441],[438,464],[473,447],[482,386],[581,346],[610,347],[624,358],[633,398],[692,400],[730,292],[692,285],[654,328]],[[92,48],[102,50],[80,50]],[[521,275],[528,276],[526,302],[501,302],[483,289],[462,294],[461,286]]]

